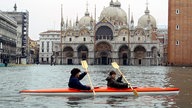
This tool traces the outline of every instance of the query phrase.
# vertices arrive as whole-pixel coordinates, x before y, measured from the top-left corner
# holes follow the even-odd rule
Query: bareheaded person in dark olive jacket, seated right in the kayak
[[[112,88],[128,88],[128,84],[122,81],[122,75],[116,79],[115,71],[111,71],[106,78],[107,86]]]

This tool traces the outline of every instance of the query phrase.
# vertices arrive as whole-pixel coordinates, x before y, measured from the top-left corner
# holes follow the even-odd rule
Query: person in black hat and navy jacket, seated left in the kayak
[[[84,76],[87,74],[87,72],[83,72],[80,74],[80,69],[73,68],[71,70],[71,76],[69,79],[68,86],[70,88],[80,89],[80,90],[91,90],[90,86],[81,84],[80,80],[84,78]]]

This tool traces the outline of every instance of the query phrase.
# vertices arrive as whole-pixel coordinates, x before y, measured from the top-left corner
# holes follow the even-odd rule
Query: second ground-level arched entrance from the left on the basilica
[[[88,58],[88,48],[85,45],[79,46],[77,51],[79,60],[86,60]]]

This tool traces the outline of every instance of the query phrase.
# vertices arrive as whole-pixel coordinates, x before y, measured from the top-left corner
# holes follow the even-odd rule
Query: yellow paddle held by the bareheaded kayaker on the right
[[[129,84],[129,86],[131,87],[131,90],[133,91],[134,95],[135,95],[135,96],[138,96],[137,91],[133,89],[133,87],[131,86],[131,84],[127,81],[127,79],[125,78],[125,76],[123,75],[123,73],[120,71],[119,65],[118,65],[116,62],[113,62],[113,63],[111,63],[111,64],[112,64],[112,66],[113,66],[115,69],[117,69],[117,70],[119,71],[119,73],[123,76],[124,80]]]

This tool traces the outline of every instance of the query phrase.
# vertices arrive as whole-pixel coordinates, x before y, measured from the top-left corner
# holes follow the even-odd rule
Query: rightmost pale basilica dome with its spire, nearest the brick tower
[[[138,27],[147,28],[150,26],[156,27],[156,20],[149,14],[148,7],[145,10],[145,15],[141,16],[138,20]]]

